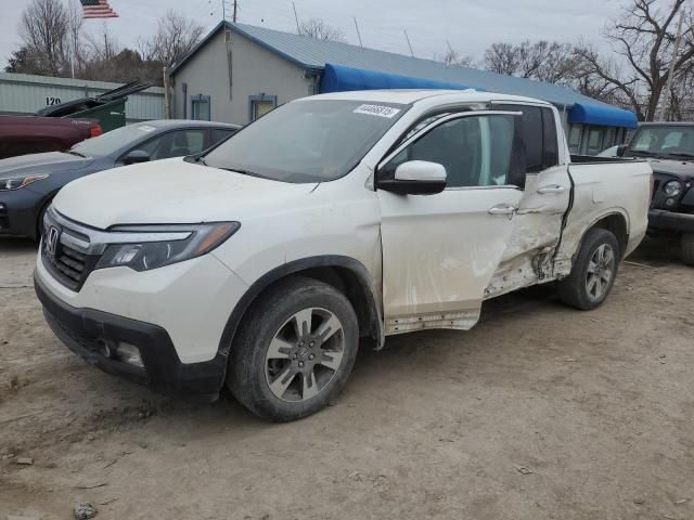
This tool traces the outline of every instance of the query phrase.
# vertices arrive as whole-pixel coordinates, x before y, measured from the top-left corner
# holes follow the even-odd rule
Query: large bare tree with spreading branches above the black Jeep
[[[673,79],[677,79],[694,58],[691,15],[683,29],[682,46],[677,55],[672,55],[677,17],[685,9],[685,1],[673,0],[663,6],[661,1],[633,0],[625,9],[621,17],[605,30],[624,65],[600,56],[590,46],[579,46],[576,51],[586,74],[614,86],[641,120],[655,118],[670,75],[671,60],[674,60]]]

